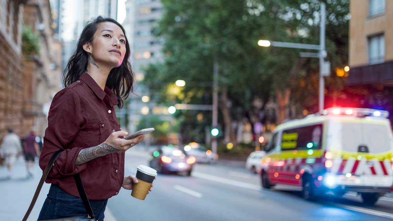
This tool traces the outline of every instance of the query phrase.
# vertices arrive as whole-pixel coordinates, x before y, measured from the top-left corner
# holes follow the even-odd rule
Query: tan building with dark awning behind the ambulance
[[[355,107],[389,111],[393,123],[393,1],[351,0],[349,6],[348,97]]]

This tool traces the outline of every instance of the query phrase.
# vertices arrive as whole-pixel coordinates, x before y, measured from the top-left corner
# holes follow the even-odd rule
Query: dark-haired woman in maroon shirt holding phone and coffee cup
[[[122,139],[127,132],[120,129],[114,109],[123,107],[133,91],[129,57],[125,30],[116,20],[99,16],[86,24],[63,72],[65,88],[54,96],[48,114],[41,169],[63,151],[46,179],[51,186],[38,220],[86,215],[76,173],[99,221],[110,197],[138,183],[134,175],[124,176],[124,156],[145,135]]]

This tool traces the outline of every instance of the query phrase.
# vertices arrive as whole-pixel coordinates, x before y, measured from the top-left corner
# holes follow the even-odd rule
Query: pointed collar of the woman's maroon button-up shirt
[[[99,99],[110,103],[111,106],[118,105],[118,99],[116,98],[112,90],[110,90],[107,86],[105,86],[105,89],[102,90],[101,87],[99,87],[99,85],[97,84],[97,82],[94,81],[92,76],[90,76],[86,72],[83,72],[79,79],[86,83],[86,85],[94,92],[95,96],[97,96]],[[105,99],[106,96],[107,98]]]

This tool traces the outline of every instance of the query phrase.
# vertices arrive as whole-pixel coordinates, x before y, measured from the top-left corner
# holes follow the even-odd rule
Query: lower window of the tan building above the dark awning
[[[368,39],[369,64],[383,63],[385,58],[385,37],[383,34]]]

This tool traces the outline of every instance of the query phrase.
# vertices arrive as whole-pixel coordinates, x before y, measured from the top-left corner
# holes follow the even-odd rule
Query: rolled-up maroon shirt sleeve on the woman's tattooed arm
[[[83,171],[86,164],[75,166],[81,149],[86,147],[70,147],[75,136],[83,125],[81,101],[73,90],[63,90],[55,95],[48,114],[48,128],[45,131],[39,165],[41,169],[52,155],[64,150],[53,165],[48,177],[64,177]]]

